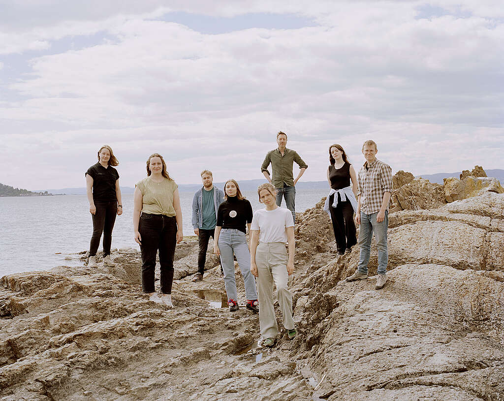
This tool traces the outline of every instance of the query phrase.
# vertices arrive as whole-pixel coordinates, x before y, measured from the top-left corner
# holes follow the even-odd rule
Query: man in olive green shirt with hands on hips
[[[287,134],[285,132],[280,131],[277,133],[277,144],[278,148],[268,152],[264,158],[261,171],[266,179],[277,189],[277,205],[280,206],[282,204],[283,195],[287,209],[292,212],[292,217],[295,222],[295,185],[299,178],[303,175],[304,171],[308,168],[308,165],[303,162],[303,159],[299,157],[296,151],[286,148]],[[300,168],[296,179],[294,179],[294,175],[292,174],[292,165],[294,162],[296,162]],[[273,176],[272,178],[270,177],[270,172],[268,171],[270,163]]]

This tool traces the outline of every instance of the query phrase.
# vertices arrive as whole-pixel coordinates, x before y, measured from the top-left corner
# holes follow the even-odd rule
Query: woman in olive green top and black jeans
[[[135,241],[142,251],[142,290],[150,300],[173,307],[173,257],[175,245],[183,238],[182,211],[178,185],[166,171],[166,164],[158,153],[147,160],[147,178],[135,188],[133,228]],[[154,289],[154,269],[159,249],[161,296]]]

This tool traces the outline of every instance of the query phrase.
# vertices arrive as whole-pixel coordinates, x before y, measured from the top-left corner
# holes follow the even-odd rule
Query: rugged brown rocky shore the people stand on
[[[444,185],[400,173],[382,290],[344,281],[359,250],[333,250],[324,199],[297,214],[299,335],[271,350],[257,315],[220,307],[210,252],[191,281],[195,239],[177,246],[171,310],[141,293],[134,249],[114,268],[3,277],[0,400],[504,400],[504,190],[470,172]]]

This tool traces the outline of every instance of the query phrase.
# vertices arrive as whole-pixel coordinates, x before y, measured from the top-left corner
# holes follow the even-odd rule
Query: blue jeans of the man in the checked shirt
[[[378,223],[376,216],[378,212],[366,215],[360,213],[359,247],[360,257],[357,270],[360,273],[367,273],[367,263],[371,253],[371,239],[376,241],[378,249],[378,274],[387,273],[387,263],[389,262],[389,251],[387,248],[387,229],[389,228],[389,212],[385,211],[385,219]]]

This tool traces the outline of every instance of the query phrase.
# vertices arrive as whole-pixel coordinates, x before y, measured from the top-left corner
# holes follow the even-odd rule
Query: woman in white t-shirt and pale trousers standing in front
[[[272,184],[260,185],[257,192],[259,202],[266,208],[254,213],[250,226],[250,271],[258,278],[259,325],[263,344],[273,347],[278,335],[273,283],[277,287],[277,299],[287,338],[292,340],[297,335],[292,318],[292,293],[287,289],[288,278],[294,273],[294,220],[288,209],[276,205],[276,189]],[[288,257],[285,249],[287,241]]]

